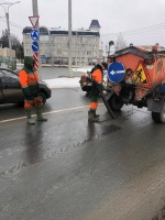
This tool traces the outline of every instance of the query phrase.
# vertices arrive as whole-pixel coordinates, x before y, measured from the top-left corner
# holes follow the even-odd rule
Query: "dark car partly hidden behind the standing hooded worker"
[[[43,103],[51,98],[52,91],[44,81],[38,82],[40,97]],[[19,75],[11,69],[0,67],[0,105],[22,103],[23,95]]]

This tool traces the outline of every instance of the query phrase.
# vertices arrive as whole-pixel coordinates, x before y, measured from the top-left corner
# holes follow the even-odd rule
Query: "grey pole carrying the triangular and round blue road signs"
[[[33,6],[33,16],[38,16],[38,9],[37,9],[37,0],[32,0],[32,6]],[[38,22],[36,24],[36,31],[40,33],[38,30]],[[38,50],[37,50],[37,58],[38,58],[38,79],[42,80],[42,73],[41,73],[41,51],[40,51],[40,37],[36,40],[38,43]]]

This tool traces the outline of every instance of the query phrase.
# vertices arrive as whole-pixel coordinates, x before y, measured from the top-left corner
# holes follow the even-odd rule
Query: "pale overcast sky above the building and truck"
[[[14,0],[0,0],[1,2]],[[22,29],[31,26],[32,0],[20,0],[9,10],[11,33],[22,41]],[[68,0],[37,0],[40,25],[68,30]],[[160,43],[165,46],[165,0],[72,0],[73,30],[88,29],[92,19],[101,25],[103,46],[119,33],[129,45]],[[0,7],[0,32],[7,29]]]

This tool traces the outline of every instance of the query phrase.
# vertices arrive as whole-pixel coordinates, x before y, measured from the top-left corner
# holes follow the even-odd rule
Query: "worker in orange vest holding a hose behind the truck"
[[[107,69],[107,63],[97,64],[90,72],[91,79],[97,81],[98,86],[102,90],[103,95],[106,95],[106,90],[103,87],[103,70]],[[92,84],[92,88],[89,91],[90,106],[88,111],[88,121],[97,122],[99,121],[99,114],[96,114],[96,110],[98,108],[98,98],[99,98],[99,89],[95,84]]]

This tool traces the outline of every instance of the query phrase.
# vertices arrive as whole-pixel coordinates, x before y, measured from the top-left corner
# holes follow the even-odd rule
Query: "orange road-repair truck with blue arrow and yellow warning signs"
[[[123,105],[146,107],[155,122],[165,122],[165,51],[134,46],[109,56],[107,100],[112,110]]]

